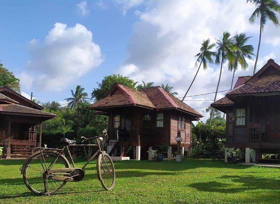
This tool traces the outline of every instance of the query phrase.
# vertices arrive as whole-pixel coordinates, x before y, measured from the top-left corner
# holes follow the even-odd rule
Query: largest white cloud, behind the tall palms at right
[[[246,32],[256,35],[255,39],[258,40],[259,25],[248,22],[254,9],[254,5],[243,0],[150,1],[146,3],[144,11],[137,12],[139,21],[134,24],[134,34],[127,47],[128,58],[119,72],[136,81],[169,83],[179,93],[178,97],[183,96],[197,71],[194,56],[199,52],[202,40],[221,38],[224,30],[232,35],[237,31]],[[275,27],[268,25],[267,29],[270,31],[266,33],[273,29],[277,33]],[[260,55],[257,69],[266,63],[267,58],[275,56],[274,53],[265,57]],[[236,72],[234,83],[237,76],[253,73],[254,61],[248,60],[248,64],[247,70],[239,69]],[[210,65],[207,70],[201,69],[188,95],[215,92],[219,72],[215,65]],[[227,71],[224,64],[219,91],[229,89],[231,79],[232,73]],[[217,98],[223,97],[224,93],[218,93]],[[212,102],[197,98],[201,96],[187,97],[186,100],[196,101],[185,102],[193,108],[209,106]],[[203,100],[213,98],[214,94],[203,96]],[[196,110],[205,116],[204,121],[209,117],[205,108]]]

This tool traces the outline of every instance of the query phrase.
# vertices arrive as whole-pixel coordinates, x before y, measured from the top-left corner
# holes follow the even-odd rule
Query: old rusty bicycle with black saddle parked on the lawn
[[[85,175],[85,167],[99,153],[97,157],[97,175],[101,185],[105,190],[111,190],[115,185],[115,168],[111,157],[103,150],[101,142],[107,135],[106,130],[103,135],[85,138],[83,141],[96,139],[97,144],[76,144],[75,140],[62,138],[60,143],[62,149],[31,147],[37,150],[30,155],[20,168],[23,181],[26,187],[37,195],[52,195],[62,189],[66,182],[81,181]],[[82,141],[82,143],[83,143]],[[98,150],[85,163],[82,168],[76,168],[69,146],[98,146]],[[67,150],[73,168],[64,156],[64,149]]]

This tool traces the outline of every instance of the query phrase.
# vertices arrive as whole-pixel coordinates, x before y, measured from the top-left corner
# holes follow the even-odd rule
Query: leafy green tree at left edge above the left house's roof
[[[9,70],[0,63],[0,87],[2,86],[6,86],[20,93],[20,80],[15,77],[13,72],[9,72]]]

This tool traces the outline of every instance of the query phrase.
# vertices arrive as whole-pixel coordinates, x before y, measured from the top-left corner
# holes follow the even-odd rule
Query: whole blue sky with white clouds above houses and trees
[[[169,83],[183,96],[196,69],[202,40],[246,32],[255,50],[259,25],[248,23],[254,6],[245,0],[3,1],[0,59],[21,79],[23,94],[41,102],[63,102],[77,84],[91,93],[105,75]],[[265,26],[257,69],[279,60],[279,28]],[[254,61],[248,60],[251,75]],[[189,95],[214,92],[219,69],[200,70]],[[219,90],[230,88],[226,65]],[[219,93],[218,97],[223,97]],[[210,104],[212,95],[189,97],[191,107]],[[205,108],[196,109],[206,118]]]

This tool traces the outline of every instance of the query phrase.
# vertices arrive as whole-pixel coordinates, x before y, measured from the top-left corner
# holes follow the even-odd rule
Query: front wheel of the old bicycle
[[[105,190],[111,190],[115,185],[115,168],[111,157],[104,153],[97,158],[97,175]]]

